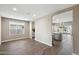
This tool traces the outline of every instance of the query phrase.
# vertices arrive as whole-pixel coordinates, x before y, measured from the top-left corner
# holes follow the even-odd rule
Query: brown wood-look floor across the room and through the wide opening
[[[34,39],[22,39],[2,43],[0,55],[71,55],[72,38],[63,35],[62,41],[54,41],[55,46],[49,47]]]

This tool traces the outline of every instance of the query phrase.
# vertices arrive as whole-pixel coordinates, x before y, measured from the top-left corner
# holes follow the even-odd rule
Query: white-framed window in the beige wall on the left
[[[10,35],[24,34],[24,23],[10,22],[9,23],[9,34]]]

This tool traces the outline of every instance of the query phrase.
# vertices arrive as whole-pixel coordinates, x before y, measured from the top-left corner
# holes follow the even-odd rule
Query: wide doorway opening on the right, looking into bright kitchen
[[[61,47],[61,51],[72,54],[73,11],[66,11],[52,17],[52,41],[55,46]],[[62,53],[60,53],[62,54]]]

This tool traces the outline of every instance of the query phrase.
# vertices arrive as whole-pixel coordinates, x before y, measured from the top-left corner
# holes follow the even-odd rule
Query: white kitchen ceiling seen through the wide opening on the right
[[[54,23],[61,23],[61,22],[71,22],[73,21],[73,11],[67,11],[58,15],[53,16]]]

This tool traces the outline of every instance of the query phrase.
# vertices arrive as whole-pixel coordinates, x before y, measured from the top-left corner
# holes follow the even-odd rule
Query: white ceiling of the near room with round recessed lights
[[[74,4],[0,4],[0,15],[31,21],[73,5]],[[16,8],[17,11],[13,11],[12,8]],[[36,16],[33,16],[33,14]]]

